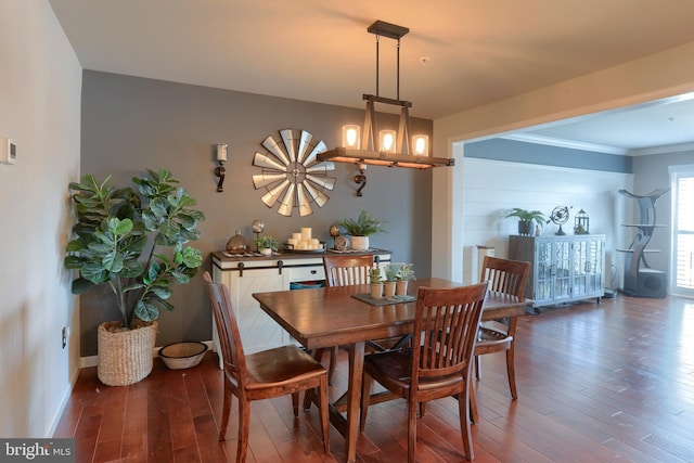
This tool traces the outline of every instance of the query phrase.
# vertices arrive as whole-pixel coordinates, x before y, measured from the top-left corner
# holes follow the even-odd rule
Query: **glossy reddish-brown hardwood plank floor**
[[[334,395],[347,381],[340,356]],[[55,437],[76,439],[78,462],[234,461],[235,411],[228,440],[217,441],[216,361],[207,353],[198,366],[175,371],[157,359],[147,378],[128,387],[104,386],[86,369]],[[478,463],[694,462],[694,301],[619,295],[527,314],[518,322],[516,378],[512,401],[503,353],[484,356],[473,426]],[[407,461],[403,406],[370,409],[360,461]],[[462,461],[457,411],[450,398],[429,402],[419,419],[417,461]],[[254,402],[248,462],[343,462],[344,439],[332,428],[325,455],[318,429],[316,408],[295,420],[288,397]]]

